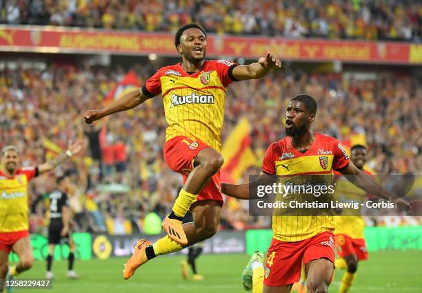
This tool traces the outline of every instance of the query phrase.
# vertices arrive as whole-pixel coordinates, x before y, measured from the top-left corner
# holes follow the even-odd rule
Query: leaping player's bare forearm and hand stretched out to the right
[[[274,53],[268,52],[267,56],[259,58],[258,62],[234,67],[232,74],[237,80],[258,79],[274,67],[281,67],[281,61]]]

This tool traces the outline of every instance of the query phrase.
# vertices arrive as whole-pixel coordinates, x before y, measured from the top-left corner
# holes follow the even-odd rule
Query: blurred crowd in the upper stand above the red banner
[[[208,32],[286,38],[421,41],[414,0],[0,0],[8,24],[172,31],[195,21]]]

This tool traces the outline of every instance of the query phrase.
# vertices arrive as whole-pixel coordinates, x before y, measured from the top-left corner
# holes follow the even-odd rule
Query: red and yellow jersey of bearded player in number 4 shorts
[[[308,184],[310,180],[331,180],[332,170],[349,164],[348,154],[335,138],[314,133],[314,143],[304,153],[292,146],[286,136],[270,144],[263,160],[262,171],[273,175],[288,175],[295,183]],[[299,181],[299,182],[298,182]],[[272,231],[274,239],[294,242],[308,239],[326,230],[334,230],[332,215],[281,215],[274,210]]]

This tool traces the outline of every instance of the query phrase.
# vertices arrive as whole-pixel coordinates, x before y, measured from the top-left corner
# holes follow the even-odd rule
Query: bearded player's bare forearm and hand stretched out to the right
[[[382,188],[370,175],[360,171],[352,162],[349,162],[348,166],[339,170],[345,178],[352,182],[354,185],[366,191],[369,194],[376,195],[383,199],[390,199],[396,202],[400,209],[406,210],[408,214],[411,212],[410,205],[405,200],[397,197],[393,197],[384,188]]]

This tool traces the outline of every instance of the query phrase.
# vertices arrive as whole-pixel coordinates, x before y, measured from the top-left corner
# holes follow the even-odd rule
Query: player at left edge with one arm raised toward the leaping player
[[[10,276],[29,270],[34,261],[28,232],[28,182],[40,174],[53,170],[83,149],[83,142],[71,144],[66,153],[36,167],[19,168],[19,152],[15,146],[1,150],[0,169],[0,279],[8,273],[11,251],[19,263],[9,270]],[[1,292],[1,291],[0,291]]]

